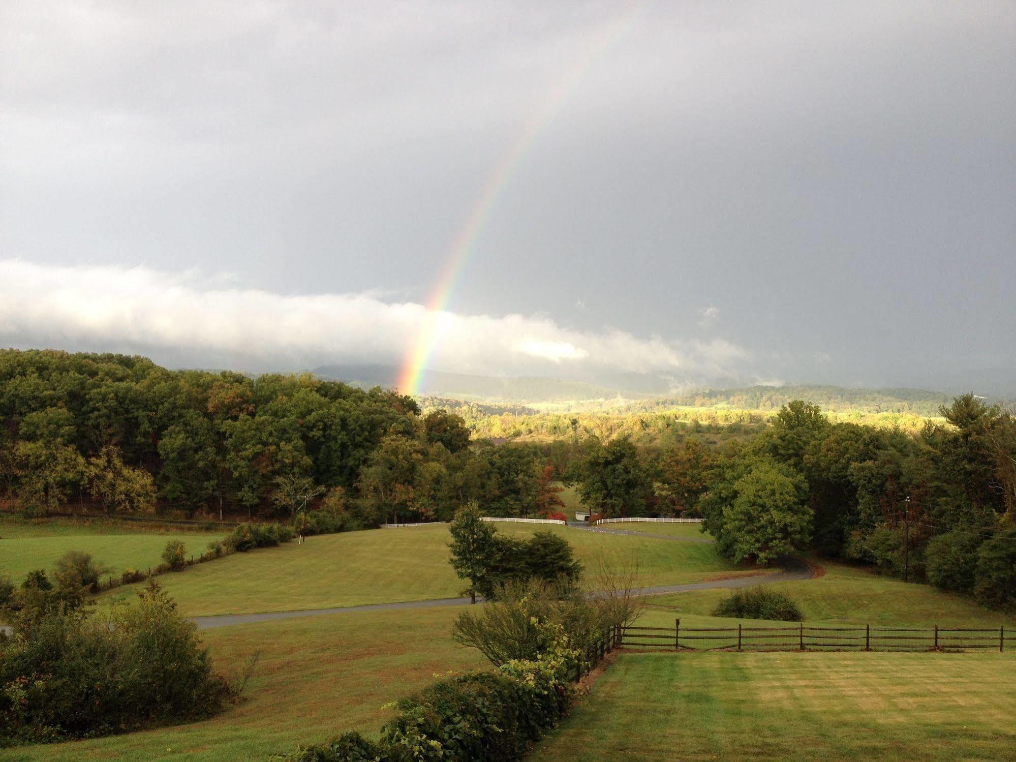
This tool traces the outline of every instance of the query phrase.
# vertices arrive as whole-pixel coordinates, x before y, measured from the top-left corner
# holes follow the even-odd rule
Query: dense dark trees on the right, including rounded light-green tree
[[[940,415],[912,433],[795,400],[757,436],[719,446],[587,440],[564,474],[605,516],[701,515],[736,561],[810,546],[1016,606],[1016,418],[972,394]]]

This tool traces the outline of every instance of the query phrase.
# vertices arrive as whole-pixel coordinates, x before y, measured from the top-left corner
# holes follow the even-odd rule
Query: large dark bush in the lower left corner
[[[112,622],[35,593],[0,644],[0,744],[206,717],[234,695],[156,582]]]

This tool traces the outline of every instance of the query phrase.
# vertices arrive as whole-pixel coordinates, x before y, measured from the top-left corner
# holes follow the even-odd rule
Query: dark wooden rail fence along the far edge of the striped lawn
[[[631,625],[614,635],[617,645],[671,651],[1005,651],[1016,647],[1016,631],[1005,627],[814,627],[805,623],[784,627],[639,627]]]

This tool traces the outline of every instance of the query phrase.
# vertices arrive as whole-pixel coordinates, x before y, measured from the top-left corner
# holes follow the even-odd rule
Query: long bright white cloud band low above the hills
[[[489,375],[588,371],[711,378],[741,370],[721,339],[577,331],[547,317],[434,314],[368,294],[299,296],[229,285],[224,275],[0,260],[0,341],[170,355],[215,367],[400,365],[436,318],[433,369]],[[199,360],[200,359],[200,360]]]

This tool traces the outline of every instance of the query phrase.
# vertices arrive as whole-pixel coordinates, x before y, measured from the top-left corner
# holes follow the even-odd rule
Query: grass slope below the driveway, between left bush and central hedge
[[[376,734],[386,703],[435,675],[488,664],[448,632],[459,610],[307,617],[202,633],[217,672],[261,651],[247,700],[201,722],[91,741],[0,750],[10,762],[265,760],[342,731]]]

